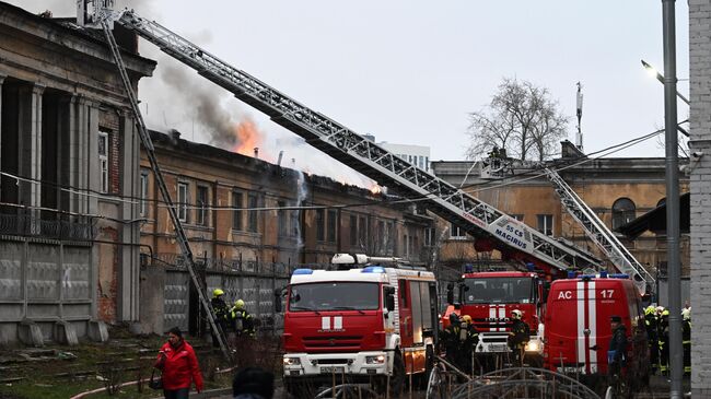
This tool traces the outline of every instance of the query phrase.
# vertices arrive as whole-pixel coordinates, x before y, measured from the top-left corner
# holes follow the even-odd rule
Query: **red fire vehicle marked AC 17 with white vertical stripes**
[[[649,351],[640,295],[627,274],[582,275],[556,280],[546,310],[544,366],[595,380],[607,375],[610,316],[627,328],[625,376],[628,386],[649,382]]]

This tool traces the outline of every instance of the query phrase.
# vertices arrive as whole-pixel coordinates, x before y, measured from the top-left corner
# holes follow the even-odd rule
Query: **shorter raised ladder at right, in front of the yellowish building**
[[[587,207],[585,201],[573,191],[556,171],[546,168],[546,174],[553,184],[556,192],[560,196],[560,202],[568,213],[580,223],[587,237],[605,253],[615,268],[622,273],[629,274],[640,293],[644,294],[646,285],[654,284],[652,274],[630,254],[615,234],[607,228],[605,223],[597,218],[597,214]]]

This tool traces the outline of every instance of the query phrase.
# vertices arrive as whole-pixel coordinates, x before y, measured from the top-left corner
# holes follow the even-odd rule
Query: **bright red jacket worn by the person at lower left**
[[[163,388],[175,390],[190,388],[191,383],[198,391],[202,390],[202,374],[193,347],[184,340],[173,348],[165,342],[154,366],[163,372]]]

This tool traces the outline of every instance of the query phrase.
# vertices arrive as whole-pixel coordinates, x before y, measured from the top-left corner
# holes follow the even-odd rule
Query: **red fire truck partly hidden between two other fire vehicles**
[[[544,284],[537,273],[521,271],[469,272],[462,275],[458,301],[454,303],[453,285],[447,298],[451,305],[443,317],[448,325],[450,313],[471,316],[479,331],[477,355],[509,352],[508,338],[511,330],[511,312],[523,312],[523,320],[531,328],[531,341],[526,345],[529,364],[540,364],[543,356]]]

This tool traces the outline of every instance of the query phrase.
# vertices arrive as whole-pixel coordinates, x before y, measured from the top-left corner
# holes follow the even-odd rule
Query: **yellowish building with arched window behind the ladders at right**
[[[566,145],[572,144],[563,143]],[[564,150],[563,153],[571,153]],[[552,164],[563,161],[552,161]],[[575,163],[580,161],[582,159]],[[456,186],[463,185],[465,191],[544,234],[572,242],[611,268],[579,223],[568,214],[541,169],[516,169],[514,173],[521,174],[520,177],[501,180],[482,178],[487,172],[481,162],[473,165],[471,161],[440,161],[433,162],[432,168],[438,177]],[[605,225],[615,231],[663,203],[666,190],[664,168],[664,159],[599,159],[566,167],[559,175]],[[688,190],[688,177],[681,176],[681,186],[683,192]],[[448,233],[441,249],[443,263],[454,268],[477,262],[486,266],[498,258],[497,254],[476,253],[470,236],[456,225],[440,222],[440,230],[445,227]],[[621,234],[618,238],[652,275],[656,275],[657,270],[662,277],[666,273],[666,237],[645,233],[634,240]],[[681,262],[684,274],[688,275],[688,236],[681,239]]]

